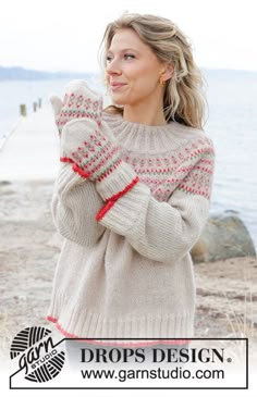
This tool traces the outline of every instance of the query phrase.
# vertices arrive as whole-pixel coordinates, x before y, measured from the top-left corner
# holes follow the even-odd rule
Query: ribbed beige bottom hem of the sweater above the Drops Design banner
[[[60,306],[59,306],[60,307]],[[76,338],[192,338],[194,336],[194,314],[145,314],[109,319],[91,312],[78,312],[63,308],[49,312],[47,319],[56,323],[66,337]]]

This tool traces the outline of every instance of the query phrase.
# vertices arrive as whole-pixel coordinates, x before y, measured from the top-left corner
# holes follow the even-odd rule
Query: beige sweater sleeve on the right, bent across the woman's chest
[[[158,201],[139,182],[117,201],[106,203],[97,215],[99,223],[125,236],[146,258],[160,262],[182,258],[195,245],[208,219],[215,154],[212,147],[206,149],[195,164],[182,166],[185,175],[168,201]],[[109,184],[121,184],[125,168],[123,173],[113,173]],[[97,186],[100,195],[106,188]]]

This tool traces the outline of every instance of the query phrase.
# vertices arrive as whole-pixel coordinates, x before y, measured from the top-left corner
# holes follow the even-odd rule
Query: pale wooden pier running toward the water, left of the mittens
[[[50,107],[22,117],[0,150],[0,181],[53,179],[59,137]]]

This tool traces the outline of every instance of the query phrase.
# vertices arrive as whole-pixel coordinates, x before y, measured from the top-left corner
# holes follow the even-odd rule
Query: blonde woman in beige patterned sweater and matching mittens
[[[52,100],[63,162],[52,212],[65,239],[48,320],[68,337],[191,338],[189,251],[208,218],[215,156],[200,73],[167,18],[125,14],[103,44],[113,106],[102,111],[83,82]]]

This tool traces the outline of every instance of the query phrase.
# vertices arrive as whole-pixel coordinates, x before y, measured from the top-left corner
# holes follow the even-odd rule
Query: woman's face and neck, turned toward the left
[[[106,61],[107,83],[115,104],[133,107],[162,100],[159,80],[163,71],[163,63],[133,29],[115,33]]]

